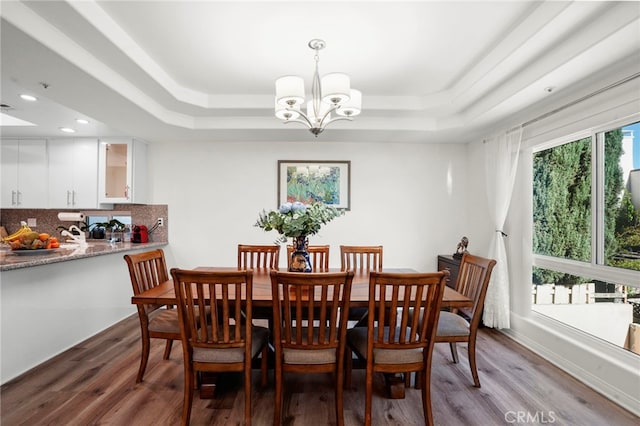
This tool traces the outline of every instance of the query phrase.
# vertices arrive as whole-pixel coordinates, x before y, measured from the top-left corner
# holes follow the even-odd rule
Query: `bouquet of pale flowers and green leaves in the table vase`
[[[277,231],[279,240],[284,243],[288,237],[315,235],[322,225],[343,214],[344,210],[320,202],[284,203],[278,210],[263,210],[255,226],[265,231]]]

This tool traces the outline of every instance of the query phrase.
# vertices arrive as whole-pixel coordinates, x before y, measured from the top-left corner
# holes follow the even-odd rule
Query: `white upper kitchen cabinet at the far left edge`
[[[0,164],[0,207],[46,207],[48,164],[45,139],[3,139]]]

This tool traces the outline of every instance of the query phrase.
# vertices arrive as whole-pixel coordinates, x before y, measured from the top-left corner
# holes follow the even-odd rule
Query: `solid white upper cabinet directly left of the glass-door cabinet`
[[[52,139],[49,208],[98,207],[98,140]]]

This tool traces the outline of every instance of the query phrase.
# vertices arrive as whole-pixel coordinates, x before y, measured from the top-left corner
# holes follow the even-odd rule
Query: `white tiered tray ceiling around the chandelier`
[[[0,14],[4,112],[38,124],[3,136],[313,140],[273,116],[276,78],[310,91],[313,38],[320,73],[363,93],[318,141],[468,142],[640,63],[636,1],[2,0]]]

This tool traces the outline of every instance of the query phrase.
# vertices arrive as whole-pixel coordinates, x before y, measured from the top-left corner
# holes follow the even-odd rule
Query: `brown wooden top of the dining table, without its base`
[[[237,271],[237,267],[219,267],[219,266],[199,266],[195,268],[198,271]],[[338,268],[330,268],[323,272],[339,272]],[[417,272],[411,268],[384,268],[382,272],[398,272],[412,273]],[[253,269],[253,306],[254,307],[271,307],[271,270],[265,268]],[[391,297],[391,295],[388,295]],[[158,304],[158,305],[174,305],[176,303],[176,294],[173,287],[173,281],[168,280],[160,285],[147,290],[143,293],[133,296],[131,303],[139,304]],[[357,272],[353,276],[351,284],[351,298],[349,299],[351,307],[367,307],[369,304],[369,273]],[[449,286],[445,286],[444,295],[442,297],[443,308],[464,308],[472,307],[473,300],[465,295],[458,293]]]

